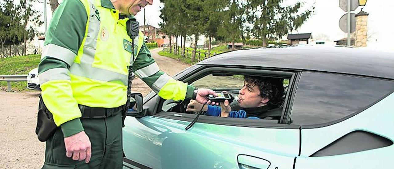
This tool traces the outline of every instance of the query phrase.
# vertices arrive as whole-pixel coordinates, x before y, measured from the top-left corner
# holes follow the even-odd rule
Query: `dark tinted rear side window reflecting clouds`
[[[361,111],[393,90],[392,81],[303,72],[294,97],[291,122],[300,125],[333,122]]]

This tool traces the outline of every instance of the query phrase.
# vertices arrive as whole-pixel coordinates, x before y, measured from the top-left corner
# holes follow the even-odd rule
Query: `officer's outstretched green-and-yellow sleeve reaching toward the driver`
[[[195,87],[176,81],[163,71],[160,71],[145,43],[143,43],[132,67],[142,81],[166,100],[184,100],[193,96]]]

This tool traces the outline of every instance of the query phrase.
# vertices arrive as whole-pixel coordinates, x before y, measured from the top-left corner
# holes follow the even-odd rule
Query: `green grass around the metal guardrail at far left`
[[[37,68],[40,55],[13,56],[0,58],[0,75],[26,75],[30,70]],[[11,82],[13,91],[28,90],[26,82]],[[0,88],[7,89],[7,82],[0,81]]]

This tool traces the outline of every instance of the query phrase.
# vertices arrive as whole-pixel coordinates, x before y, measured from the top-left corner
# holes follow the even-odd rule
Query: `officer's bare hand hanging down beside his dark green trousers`
[[[68,158],[72,156],[72,160],[85,160],[85,163],[89,163],[92,156],[92,147],[85,131],[65,137],[64,145],[66,146],[66,156]]]

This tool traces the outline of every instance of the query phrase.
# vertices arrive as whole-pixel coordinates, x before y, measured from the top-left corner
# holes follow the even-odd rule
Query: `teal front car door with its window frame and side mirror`
[[[195,72],[198,73],[179,79],[197,84],[197,79],[209,81],[219,78],[207,76],[215,72],[222,75],[253,72],[287,76],[289,79],[294,77],[294,73],[289,72],[240,68],[201,68]],[[290,80],[290,85],[293,80]],[[205,87],[217,88],[209,84]],[[192,128],[185,130],[196,115],[163,111],[162,103],[158,96],[154,96],[144,107],[156,114],[126,118],[123,129],[124,168],[288,169],[293,167],[295,157],[299,155],[299,125],[278,124],[278,120],[202,115]]]

